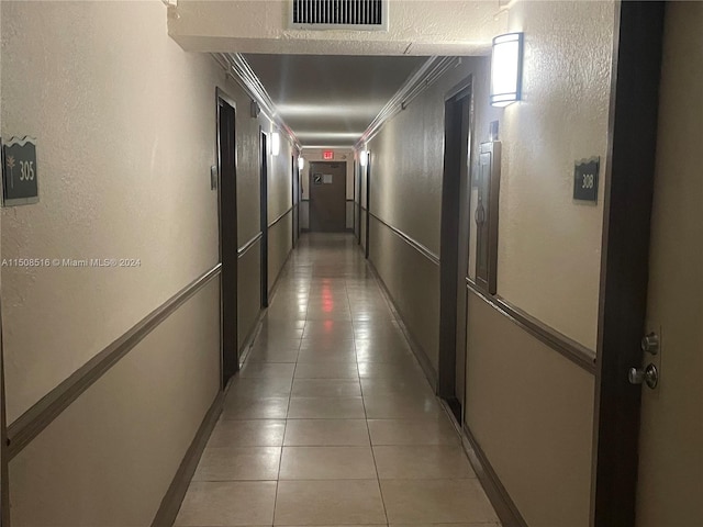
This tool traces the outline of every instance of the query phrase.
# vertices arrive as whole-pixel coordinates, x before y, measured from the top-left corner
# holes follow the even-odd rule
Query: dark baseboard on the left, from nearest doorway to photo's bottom
[[[152,527],[171,527],[174,525],[176,516],[178,516],[178,511],[180,509],[180,504],[182,503],[183,497],[186,497],[186,492],[188,491],[190,481],[198,468],[200,456],[202,456],[205,445],[210,439],[210,434],[212,434],[212,429],[215,427],[217,418],[222,412],[224,394],[225,392],[217,392],[217,396],[210,406],[210,410],[208,410],[205,417],[202,419],[200,428],[198,428],[198,431],[196,433],[196,437],[190,444],[190,447],[188,447],[186,456],[183,456],[183,460],[180,462],[180,467],[178,467],[176,475],[174,475],[174,480],[171,481],[168,491],[166,491],[164,500],[161,500],[161,504],[154,517],[154,522],[152,522]]]

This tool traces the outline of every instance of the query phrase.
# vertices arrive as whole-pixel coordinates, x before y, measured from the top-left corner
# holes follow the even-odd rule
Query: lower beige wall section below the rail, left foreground
[[[152,524],[219,390],[219,299],[215,279],[12,460],[13,526]]]

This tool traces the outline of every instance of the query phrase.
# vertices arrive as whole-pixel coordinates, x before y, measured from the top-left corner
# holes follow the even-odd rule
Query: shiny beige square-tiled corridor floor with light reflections
[[[350,235],[306,235],[176,526],[500,525]]]

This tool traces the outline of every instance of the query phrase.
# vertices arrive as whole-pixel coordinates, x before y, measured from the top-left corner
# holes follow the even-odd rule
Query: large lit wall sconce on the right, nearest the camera
[[[491,55],[491,104],[506,106],[522,98],[523,33],[493,38]]]

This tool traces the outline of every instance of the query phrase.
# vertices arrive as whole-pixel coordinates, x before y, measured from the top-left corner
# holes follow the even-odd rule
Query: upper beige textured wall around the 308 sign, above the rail
[[[603,188],[572,200],[573,164],[605,173],[613,2],[516,2],[523,101],[503,111],[498,293],[595,349]]]

